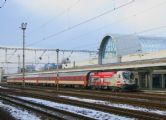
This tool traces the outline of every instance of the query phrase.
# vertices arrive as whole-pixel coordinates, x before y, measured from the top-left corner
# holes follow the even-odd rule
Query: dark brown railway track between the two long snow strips
[[[91,108],[94,110],[99,110],[99,111],[104,111],[107,113],[114,113],[122,116],[128,116],[132,118],[138,118],[138,119],[150,119],[150,120],[164,120],[166,116],[164,115],[159,115],[155,113],[148,113],[148,112],[143,112],[143,111],[137,111],[137,110],[129,110],[129,109],[124,109],[124,108],[117,108],[117,107],[112,107],[112,106],[106,106],[106,105],[101,105],[101,104],[94,104],[94,103],[87,103],[87,102],[82,102],[82,101],[75,101],[75,100],[69,100],[69,99],[64,99],[64,98],[58,98],[56,96],[53,96],[53,94],[46,94],[46,93],[39,93],[39,92],[32,92],[29,91],[27,92],[26,90],[20,91],[20,92],[15,92],[11,91],[11,93],[15,93],[17,95],[21,95],[22,92],[26,96],[33,96],[37,97],[40,99],[47,99],[51,100],[54,102],[58,103],[65,103],[65,104],[71,104],[75,106],[80,106],[80,107],[86,107],[86,108]]]

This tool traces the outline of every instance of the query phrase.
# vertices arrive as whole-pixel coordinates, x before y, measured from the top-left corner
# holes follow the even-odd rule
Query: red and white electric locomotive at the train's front
[[[92,72],[90,86],[117,90],[136,90],[134,73],[130,71]]]

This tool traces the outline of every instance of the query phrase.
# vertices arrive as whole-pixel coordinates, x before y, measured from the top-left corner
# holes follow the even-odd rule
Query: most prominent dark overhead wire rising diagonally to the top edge
[[[93,21],[93,20],[96,20],[96,19],[98,19],[98,18],[100,18],[100,17],[102,17],[102,16],[104,16],[104,15],[106,15],[106,14],[109,14],[109,13],[111,13],[111,12],[114,12],[114,11],[116,11],[116,10],[122,8],[122,7],[128,6],[128,5],[132,4],[133,2],[135,2],[135,0],[131,0],[131,1],[127,2],[127,3],[125,3],[125,4],[122,4],[122,5],[120,5],[120,6],[118,6],[118,7],[115,7],[115,8],[113,8],[113,9],[111,9],[111,10],[105,11],[105,12],[103,12],[103,13],[97,15],[97,16],[94,16],[94,17],[92,17],[92,18],[89,18],[89,19],[87,19],[87,20],[85,20],[85,21],[83,21],[83,22],[80,22],[80,23],[75,24],[75,25],[73,25],[73,26],[71,26],[71,27],[68,27],[68,28],[66,28],[66,29],[63,29],[63,30],[61,30],[61,31],[59,31],[59,32],[57,32],[57,33],[54,33],[54,34],[49,35],[49,36],[47,36],[47,37],[44,37],[42,40],[38,40],[38,41],[36,41],[36,42],[34,42],[34,43],[29,44],[28,46],[32,46],[32,45],[38,44],[39,42],[45,41],[45,40],[47,40],[47,39],[50,39],[50,38],[55,37],[55,36],[57,36],[57,35],[60,35],[60,34],[62,34],[62,33],[64,33],[64,32],[69,31],[69,30],[75,29],[75,28],[77,28],[77,27],[79,27],[79,26],[81,26],[81,25],[83,25],[83,24],[86,24],[86,23],[88,23],[88,22],[91,22],[91,21]]]

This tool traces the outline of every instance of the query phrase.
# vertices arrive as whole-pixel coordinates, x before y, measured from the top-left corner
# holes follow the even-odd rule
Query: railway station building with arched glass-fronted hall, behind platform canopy
[[[166,58],[166,38],[136,35],[107,34],[99,48],[99,64],[126,63]],[[141,89],[166,90],[166,66],[132,67],[138,73],[137,84]]]

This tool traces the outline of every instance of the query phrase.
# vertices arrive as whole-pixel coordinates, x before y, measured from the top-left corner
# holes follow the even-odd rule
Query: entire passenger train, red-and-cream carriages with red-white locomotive
[[[22,84],[22,74],[7,77],[9,84]],[[25,73],[25,84],[59,85],[65,87],[86,87],[111,90],[136,90],[135,77],[131,71],[74,71]]]

